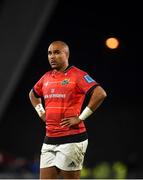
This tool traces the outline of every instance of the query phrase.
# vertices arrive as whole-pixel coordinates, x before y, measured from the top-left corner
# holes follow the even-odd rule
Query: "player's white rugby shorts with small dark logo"
[[[88,140],[62,145],[43,144],[40,168],[56,166],[65,171],[81,170]]]

